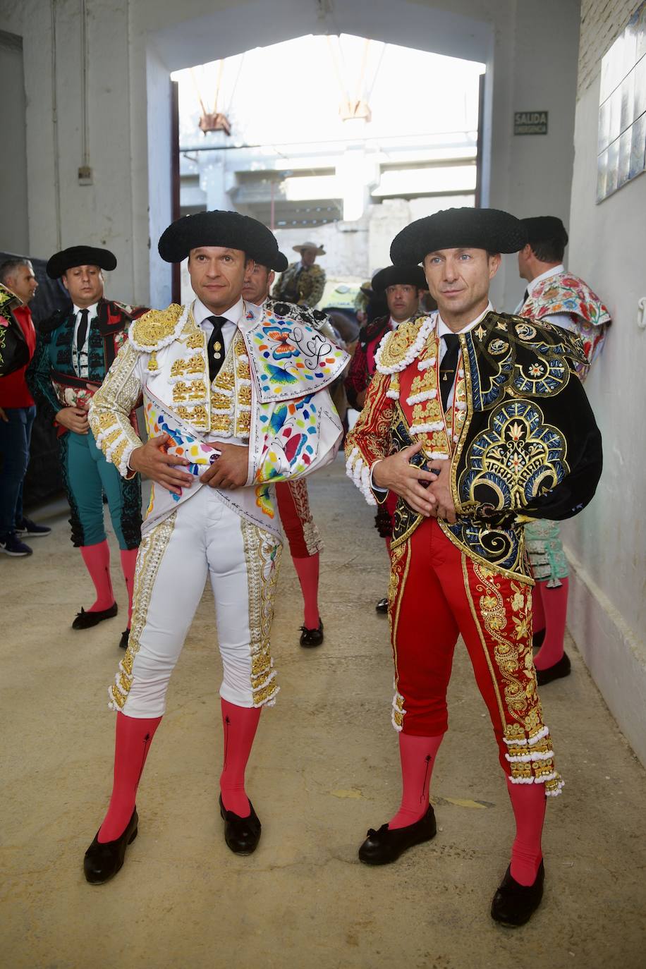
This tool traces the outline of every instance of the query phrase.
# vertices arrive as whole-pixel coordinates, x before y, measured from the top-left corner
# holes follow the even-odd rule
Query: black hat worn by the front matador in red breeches
[[[396,266],[421,263],[440,249],[486,249],[518,252],[527,233],[514,215],[499,208],[446,208],[416,219],[395,235],[390,259]]]

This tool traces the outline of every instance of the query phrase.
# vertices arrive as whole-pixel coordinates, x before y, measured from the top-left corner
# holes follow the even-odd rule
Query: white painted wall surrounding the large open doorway
[[[569,63],[575,60],[578,0],[335,0],[327,5],[331,13],[323,19],[317,16],[317,4],[301,0],[87,0],[86,6],[92,186],[77,183],[79,0],[56,0],[55,5],[45,0],[0,0],[0,14],[4,29],[23,38],[29,68],[25,89],[31,252],[47,257],[59,246],[81,240],[108,245],[119,259],[110,281],[115,297],[155,304],[168,299],[169,268],[155,255],[156,236],[169,215],[166,72],[308,33],[368,33],[390,43],[486,63],[490,184],[485,198],[521,215],[545,206],[567,210],[571,137],[526,138],[531,143],[523,146],[513,142],[510,131],[512,111],[534,107],[525,104],[530,96],[550,110],[555,132],[559,117],[567,131],[574,98]],[[57,22],[55,76],[52,7]],[[414,96],[423,109],[424,97],[441,97],[442,91]],[[563,178],[555,179],[554,171],[564,172]],[[518,286],[515,266],[504,267],[496,281],[498,305],[513,306]]]

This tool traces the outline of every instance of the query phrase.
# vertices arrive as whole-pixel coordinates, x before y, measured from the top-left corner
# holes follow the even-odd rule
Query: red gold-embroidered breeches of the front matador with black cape
[[[395,662],[393,725],[437,736],[448,726],[446,688],[462,636],[489,710],[500,763],[512,783],[562,784],[537,693],[532,590],[469,558],[437,520],[390,549],[389,614]]]

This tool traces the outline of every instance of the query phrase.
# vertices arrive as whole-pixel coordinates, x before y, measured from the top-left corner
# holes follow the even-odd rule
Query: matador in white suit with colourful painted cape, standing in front
[[[347,355],[240,296],[245,272],[275,258],[273,234],[237,212],[200,212],[172,223],[159,251],[169,263],[189,257],[196,299],[133,324],[89,414],[123,477],[153,481],[129,646],[109,690],[114,784],[85,854],[92,884],[116,874],[137,835],[138,781],[207,576],[224,668],[225,840],[240,855],[258,846],[244,774],[261,708],[279,689],[269,644],[282,547],[273,485],[323,467],[342,434],[326,389]],[[145,445],[129,419],[141,396]]]

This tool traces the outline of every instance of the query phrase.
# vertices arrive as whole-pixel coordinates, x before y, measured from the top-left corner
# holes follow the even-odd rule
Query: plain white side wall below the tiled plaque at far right
[[[622,26],[615,21],[609,43]],[[613,324],[586,382],[603,436],[603,476],[592,504],[564,528],[573,565],[569,628],[646,764],[646,331],[636,326],[637,300],[646,297],[646,175],[596,204],[597,64],[595,75],[585,62],[593,79],[576,105],[567,259],[607,304]]]

